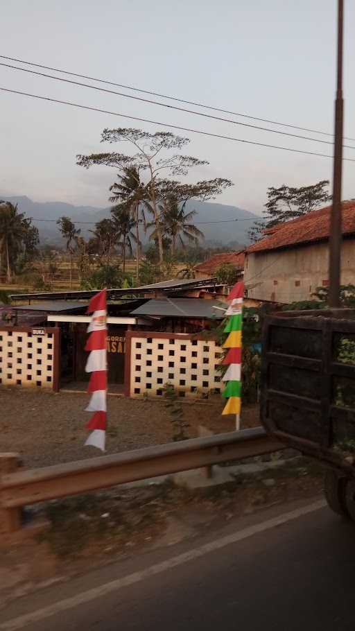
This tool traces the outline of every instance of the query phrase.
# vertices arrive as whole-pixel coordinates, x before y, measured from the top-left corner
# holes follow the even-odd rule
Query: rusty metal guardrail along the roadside
[[[24,505],[261,456],[279,449],[284,449],[284,444],[257,427],[17,472],[10,472],[17,467],[17,456],[4,454],[8,465],[1,469],[0,455],[0,530],[1,518],[5,532],[21,528]]]

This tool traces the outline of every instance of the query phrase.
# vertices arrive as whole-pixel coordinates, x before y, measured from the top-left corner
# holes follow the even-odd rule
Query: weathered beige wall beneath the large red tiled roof
[[[342,284],[355,284],[355,239],[343,241]],[[288,250],[254,252],[245,258],[248,297],[275,302],[311,300],[315,288],[328,283],[328,243],[298,245]]]

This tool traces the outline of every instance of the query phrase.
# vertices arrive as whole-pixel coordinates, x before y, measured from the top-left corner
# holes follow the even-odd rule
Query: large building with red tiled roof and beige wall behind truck
[[[327,286],[331,206],[280,223],[245,250],[248,297],[275,302],[311,300]],[[343,202],[342,284],[355,284],[355,200]]]

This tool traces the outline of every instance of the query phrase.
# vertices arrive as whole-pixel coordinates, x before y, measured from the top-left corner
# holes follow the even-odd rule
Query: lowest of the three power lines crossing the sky
[[[11,94],[21,94],[22,96],[30,96],[31,98],[39,98],[41,101],[51,101],[51,103],[60,103],[62,105],[71,105],[71,107],[78,107],[81,110],[89,110],[91,112],[101,112],[101,114],[112,114],[112,116],[121,116],[125,119],[130,119],[131,121],[140,121],[141,123],[151,123],[153,125],[159,125],[162,127],[169,127],[172,129],[178,129],[180,131],[184,131],[184,132],[191,132],[193,134],[200,134],[202,136],[209,136],[209,137],[213,137],[213,138],[222,138],[224,140],[232,140],[235,142],[243,142],[244,144],[248,144],[248,145],[255,145],[255,146],[259,146],[259,147],[266,147],[269,149],[280,149],[283,151],[291,151],[291,153],[302,153],[304,155],[317,155],[320,157],[327,157],[327,158],[332,158],[331,155],[328,155],[327,153],[317,153],[315,151],[306,151],[303,149],[292,149],[290,147],[282,147],[282,146],[277,146],[277,145],[270,145],[270,144],[266,144],[263,142],[257,142],[257,141],[252,141],[252,140],[244,140],[242,138],[235,138],[233,136],[226,136],[226,135],[222,135],[222,134],[214,134],[212,132],[205,132],[203,130],[196,130],[196,129],[191,129],[188,127],[181,127],[179,125],[173,125],[172,123],[162,123],[159,121],[152,121],[150,119],[142,119],[139,118],[138,116],[130,116],[129,114],[120,114],[119,112],[111,112],[110,110],[101,110],[98,107],[90,107],[89,105],[80,105],[79,103],[72,103],[71,101],[61,101],[58,98],[50,98],[49,96],[40,96],[39,94],[31,94],[29,92],[21,92],[21,90],[13,90],[13,89],[9,89],[6,87],[0,87],[1,92],[9,92]],[[343,158],[343,160],[346,160],[347,162],[355,162],[354,158]]]

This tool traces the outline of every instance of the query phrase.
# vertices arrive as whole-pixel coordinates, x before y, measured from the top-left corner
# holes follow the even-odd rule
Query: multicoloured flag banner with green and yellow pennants
[[[222,414],[236,415],[236,429],[239,429],[241,414],[241,331],[243,324],[243,295],[244,283],[236,283],[228,296],[230,306],[225,312],[225,315],[229,317],[224,329],[228,336],[223,344],[223,348],[229,350],[223,359],[223,364],[227,365],[228,368],[222,377],[222,381],[226,382],[222,396],[227,399]]]

